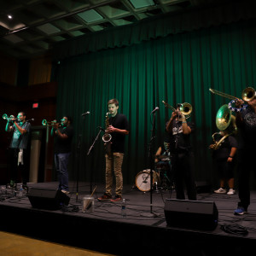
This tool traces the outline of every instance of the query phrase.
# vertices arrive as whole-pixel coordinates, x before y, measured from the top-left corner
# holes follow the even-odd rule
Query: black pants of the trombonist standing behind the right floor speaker
[[[174,177],[177,199],[185,199],[185,184],[189,200],[196,200],[193,160],[194,155],[192,152],[172,154],[172,175]]]

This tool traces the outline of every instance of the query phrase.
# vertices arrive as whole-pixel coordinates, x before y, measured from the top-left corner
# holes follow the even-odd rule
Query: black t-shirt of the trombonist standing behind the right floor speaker
[[[191,132],[195,130],[195,125],[191,122],[187,122]],[[190,143],[190,134],[183,134],[183,123],[182,121],[173,120],[172,131],[169,134],[170,151],[172,154],[180,152],[188,152],[192,146]]]

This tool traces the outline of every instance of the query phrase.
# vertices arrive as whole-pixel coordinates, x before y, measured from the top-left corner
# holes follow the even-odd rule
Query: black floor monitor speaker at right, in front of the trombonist
[[[166,223],[172,227],[214,230],[218,209],[214,202],[166,199]]]

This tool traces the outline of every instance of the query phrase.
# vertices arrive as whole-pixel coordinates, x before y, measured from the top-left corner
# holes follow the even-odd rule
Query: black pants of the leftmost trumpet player
[[[23,149],[23,165],[19,164],[18,166],[19,152],[20,152],[20,148],[9,148],[9,163],[10,163],[9,177],[11,180],[18,182],[19,181],[18,173],[20,170],[22,183],[26,184],[29,179],[30,151],[27,149]]]

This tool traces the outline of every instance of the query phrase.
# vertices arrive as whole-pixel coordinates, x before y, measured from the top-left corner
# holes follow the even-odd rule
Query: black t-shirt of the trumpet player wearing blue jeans
[[[60,127],[62,134],[67,135],[67,139],[61,139],[55,136],[55,154],[64,154],[71,152],[71,143],[73,139],[73,127],[71,125]]]

